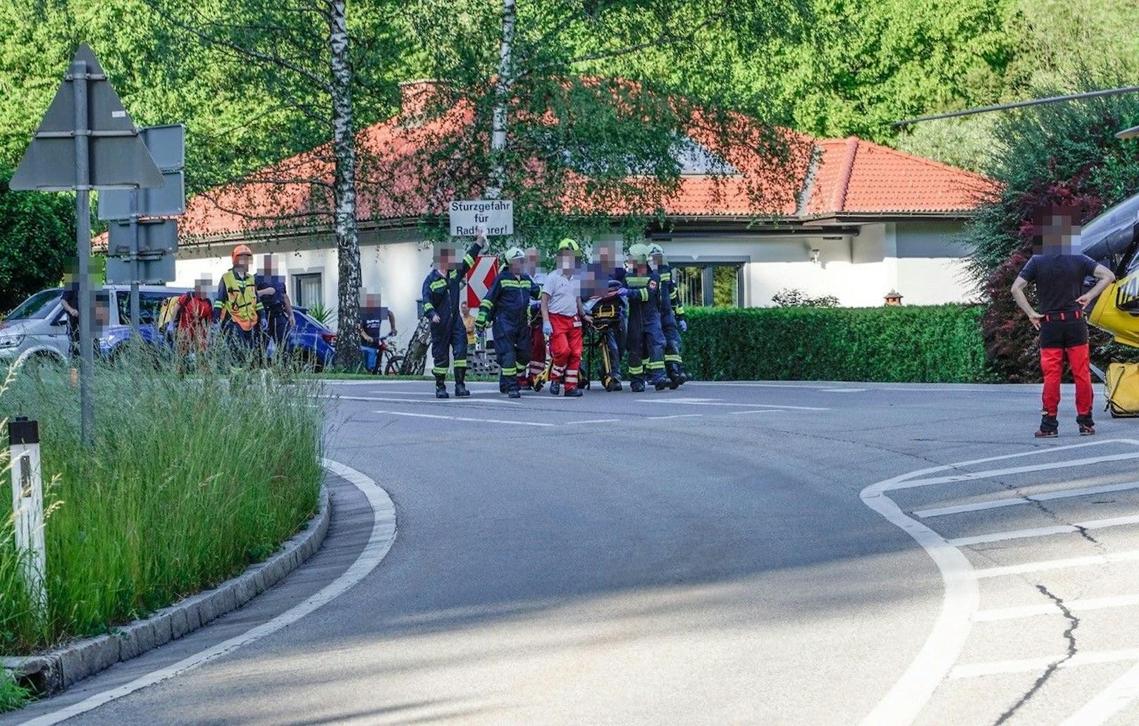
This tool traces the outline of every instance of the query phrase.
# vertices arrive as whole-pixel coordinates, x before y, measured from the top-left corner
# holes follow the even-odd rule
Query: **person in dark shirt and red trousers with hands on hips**
[[[1032,259],[1013,283],[1013,297],[1040,331],[1040,368],[1044,375],[1043,409],[1036,438],[1057,435],[1060,378],[1067,358],[1075,380],[1075,410],[1080,435],[1096,433],[1091,419],[1091,369],[1088,352],[1088,320],[1084,308],[1099,296],[1115,275],[1084,254],[1073,254],[1073,238],[1080,228],[1073,223],[1074,210],[1052,207],[1038,220]],[[1084,278],[1096,284],[1083,292]],[[1025,296],[1029,283],[1036,285],[1039,311]]]

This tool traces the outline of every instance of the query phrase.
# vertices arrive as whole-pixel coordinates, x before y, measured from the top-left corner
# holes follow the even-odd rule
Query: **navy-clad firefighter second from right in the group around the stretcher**
[[[661,329],[661,278],[648,267],[649,248],[636,244],[629,248],[633,270],[625,276],[622,296],[629,301],[629,332],[625,346],[629,349],[630,389],[634,393],[645,390],[645,376],[657,391],[669,388],[664,375],[664,332]]]

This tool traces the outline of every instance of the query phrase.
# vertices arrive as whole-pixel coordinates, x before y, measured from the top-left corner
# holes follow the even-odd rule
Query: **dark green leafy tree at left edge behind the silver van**
[[[9,179],[11,170],[0,168],[0,312],[58,285],[75,255],[71,195],[13,191]]]

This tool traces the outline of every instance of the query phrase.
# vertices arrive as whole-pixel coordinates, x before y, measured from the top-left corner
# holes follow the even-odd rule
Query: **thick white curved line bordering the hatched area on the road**
[[[933,696],[934,691],[954,670],[953,666],[961,654],[965,642],[973,627],[973,617],[980,610],[980,592],[976,573],[972,563],[964,553],[945,540],[944,537],[929,529],[921,522],[907,516],[901,507],[887,496],[887,492],[896,489],[913,487],[926,487],[934,483],[948,481],[959,481],[957,478],[928,478],[929,474],[960,468],[962,466],[974,466],[988,462],[1022,458],[1025,456],[1040,456],[1042,454],[1055,454],[1057,450],[1075,449],[1088,446],[1104,446],[1108,443],[1128,443],[1139,446],[1139,441],[1133,440],[1106,440],[1087,443],[1077,443],[1067,447],[1054,447],[1048,449],[1036,449],[1019,454],[1008,454],[1003,456],[985,457],[969,462],[958,462],[942,466],[931,466],[893,479],[887,479],[865,488],[860,497],[862,503],[880,514],[895,527],[913,538],[926,554],[937,565],[942,581],[945,586],[944,598],[942,599],[941,613],[934,623],[933,630],[926,638],[925,644],[917,656],[910,662],[901,678],[894,683],[893,687],[875,705],[862,720],[863,726],[888,726],[908,725],[917,719],[926,703]],[[1128,455],[1124,458],[1139,457],[1139,454]],[[1100,457],[1098,460],[1118,460],[1116,457]],[[1062,468],[1073,466],[1071,462],[1055,462],[1043,465],[1031,465],[1021,467],[1025,471],[1044,471],[1048,468]],[[913,480],[916,476],[926,476],[923,480]],[[1139,659],[1139,655],[1137,655]],[[1047,667],[1054,662],[1049,660]],[[1071,660],[1067,661],[1071,663]]]

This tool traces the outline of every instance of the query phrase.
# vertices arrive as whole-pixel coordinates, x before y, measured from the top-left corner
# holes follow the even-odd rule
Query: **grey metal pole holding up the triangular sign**
[[[90,127],[87,109],[87,63],[72,65],[72,88],[75,92],[75,247],[79,253],[79,400],[80,440],[91,446],[95,411],[91,408],[91,377],[95,374],[95,351],[91,291],[91,169],[88,156]]]

